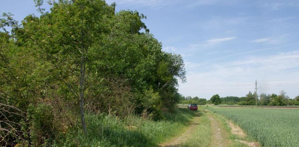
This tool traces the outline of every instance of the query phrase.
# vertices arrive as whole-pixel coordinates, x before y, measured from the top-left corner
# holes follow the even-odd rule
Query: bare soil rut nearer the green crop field
[[[212,146],[213,147],[226,147],[228,140],[225,138],[228,134],[225,132],[222,124],[215,120],[211,114],[208,114],[208,117],[211,120],[211,129],[212,129]]]

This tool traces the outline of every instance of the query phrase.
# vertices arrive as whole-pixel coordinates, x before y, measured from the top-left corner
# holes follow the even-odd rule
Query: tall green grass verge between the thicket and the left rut
[[[81,129],[73,129],[66,132],[61,139],[57,139],[52,146],[158,146],[158,143],[183,132],[194,115],[184,108],[178,108],[174,113],[166,113],[166,119],[160,121],[138,116],[119,119],[105,114],[88,114],[88,136],[84,136]]]

